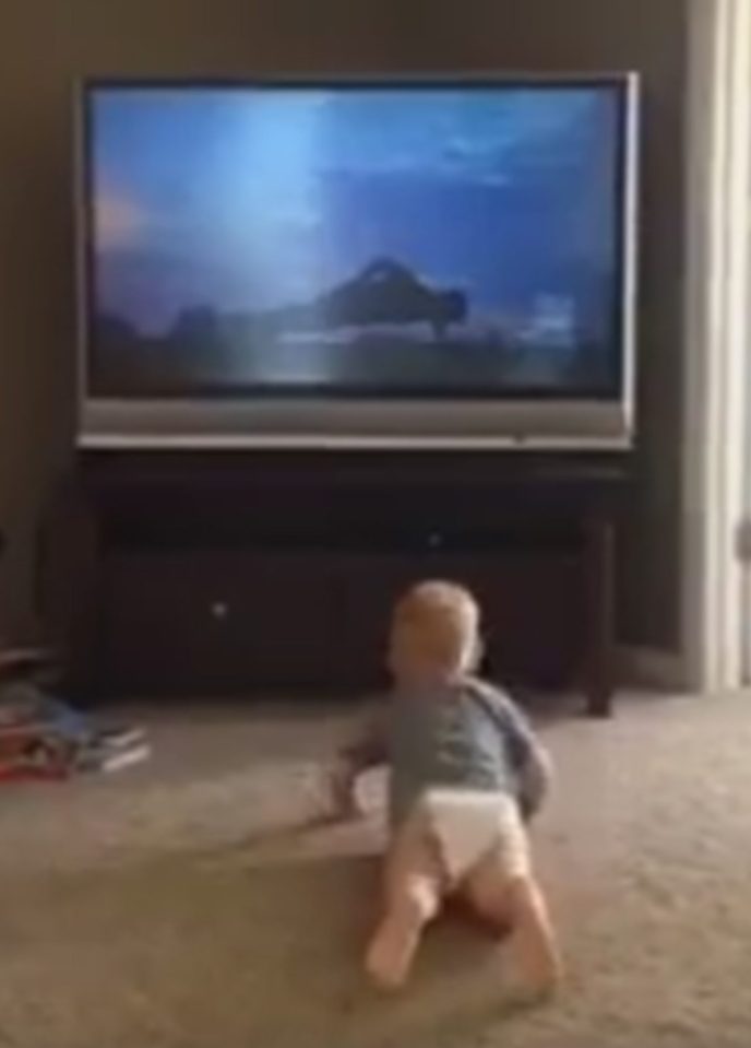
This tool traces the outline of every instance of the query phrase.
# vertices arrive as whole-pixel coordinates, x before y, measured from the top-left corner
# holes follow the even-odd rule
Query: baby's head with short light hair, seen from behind
[[[419,582],[396,603],[389,666],[397,683],[473,672],[480,657],[477,601],[454,582]]]

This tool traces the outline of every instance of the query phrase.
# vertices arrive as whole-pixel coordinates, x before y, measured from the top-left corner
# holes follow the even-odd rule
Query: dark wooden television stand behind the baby
[[[46,526],[48,616],[93,696],[357,693],[397,593],[450,577],[488,673],[607,716],[625,480],[604,456],[88,452]]]

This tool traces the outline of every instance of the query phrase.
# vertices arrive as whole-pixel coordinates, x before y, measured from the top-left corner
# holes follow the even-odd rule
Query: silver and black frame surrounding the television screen
[[[629,450],[635,439],[637,219],[641,139],[641,85],[639,73],[540,75],[529,73],[449,78],[389,76],[379,81],[348,78],[248,80],[234,86],[420,86],[487,83],[608,84],[623,94],[624,121],[621,149],[620,317],[621,388],[609,399],[558,398],[503,400],[310,398],[240,396],[237,398],[103,398],[88,396],[90,360],[87,172],[82,119],[86,85],[76,94],[76,271],[78,271],[78,446],[82,449],[492,449],[516,450]],[[98,83],[95,81],[94,83]],[[118,81],[102,81],[117,84]],[[218,81],[120,81],[153,86],[179,84],[220,85]]]

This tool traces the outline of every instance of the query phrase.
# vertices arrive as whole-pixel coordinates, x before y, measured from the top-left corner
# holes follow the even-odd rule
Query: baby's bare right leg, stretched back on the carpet
[[[473,871],[463,894],[475,911],[505,932],[518,975],[529,991],[555,989],[561,963],[545,896],[532,872],[509,875],[501,856],[490,856]]]

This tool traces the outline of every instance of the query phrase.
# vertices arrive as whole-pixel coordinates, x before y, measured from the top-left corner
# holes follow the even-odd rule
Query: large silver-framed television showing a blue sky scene
[[[81,444],[628,447],[637,95],[86,83]]]

